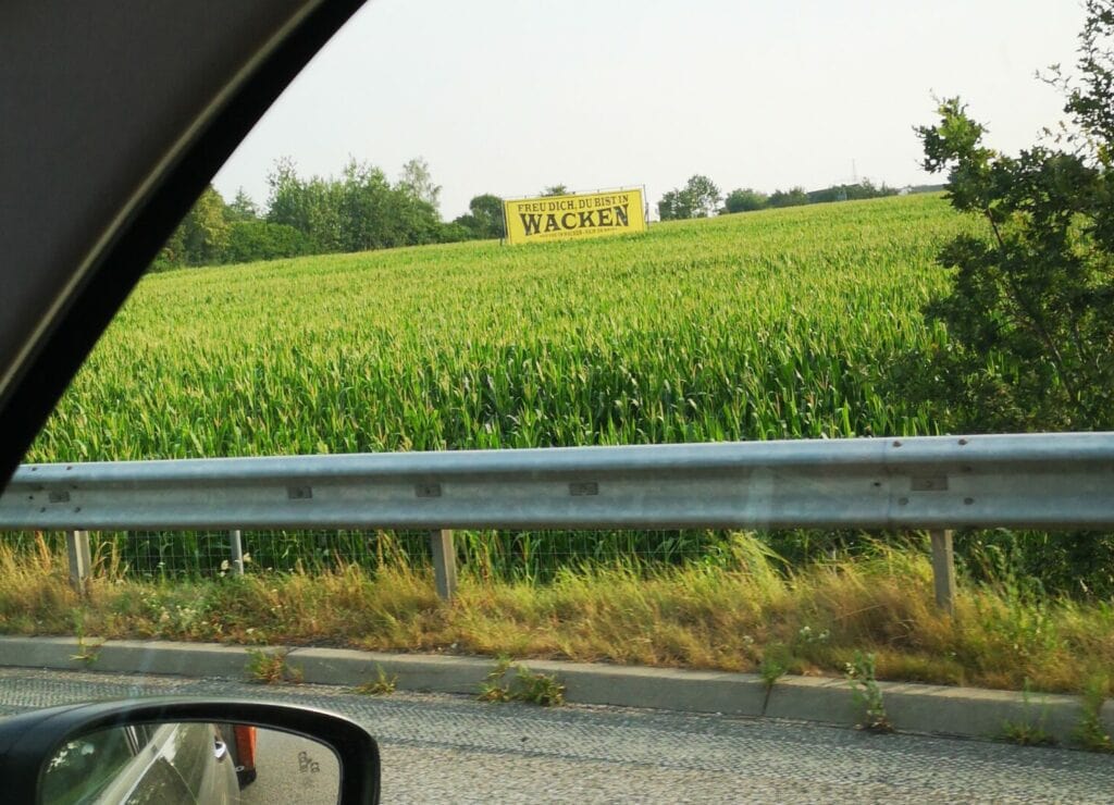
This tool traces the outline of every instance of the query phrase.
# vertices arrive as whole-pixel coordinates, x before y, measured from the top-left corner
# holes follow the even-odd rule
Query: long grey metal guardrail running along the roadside
[[[453,528],[1111,528],[1114,433],[28,464],[0,494],[0,529],[368,527],[450,559]]]

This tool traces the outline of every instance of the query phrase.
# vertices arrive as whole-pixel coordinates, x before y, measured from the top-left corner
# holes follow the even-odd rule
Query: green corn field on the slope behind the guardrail
[[[27,460],[931,434],[929,411],[880,387],[942,338],[918,311],[942,287],[940,246],[974,227],[910,196],[153,275]],[[531,562],[553,538],[463,534],[461,550],[530,575],[565,553],[719,542],[566,534]]]

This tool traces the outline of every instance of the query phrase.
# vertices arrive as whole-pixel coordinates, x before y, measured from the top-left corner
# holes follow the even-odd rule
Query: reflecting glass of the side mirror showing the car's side
[[[41,802],[329,803],[340,764],[325,744],[241,724],[109,727],[68,740],[47,763]]]

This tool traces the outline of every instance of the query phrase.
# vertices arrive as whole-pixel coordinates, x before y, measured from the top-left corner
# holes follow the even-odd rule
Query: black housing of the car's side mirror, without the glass
[[[336,756],[338,802],[344,805],[379,802],[379,747],[355,721],[309,707],[202,698],[62,705],[0,719],[0,779],[4,799],[41,802],[47,764],[69,742],[113,727],[165,723],[236,724],[303,736]]]

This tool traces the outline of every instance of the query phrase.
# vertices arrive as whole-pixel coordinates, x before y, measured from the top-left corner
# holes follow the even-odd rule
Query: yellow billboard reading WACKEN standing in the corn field
[[[646,230],[642,188],[502,203],[508,243],[545,243]]]

